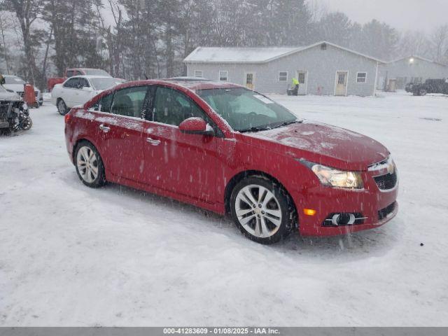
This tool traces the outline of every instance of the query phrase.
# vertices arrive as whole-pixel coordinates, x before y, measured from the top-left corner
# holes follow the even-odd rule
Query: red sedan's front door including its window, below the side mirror
[[[144,136],[144,181],[172,193],[215,202],[216,138],[185,134],[179,124],[208,116],[190,97],[157,87]]]

